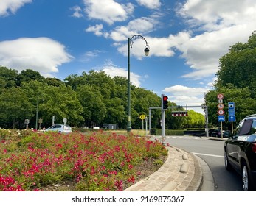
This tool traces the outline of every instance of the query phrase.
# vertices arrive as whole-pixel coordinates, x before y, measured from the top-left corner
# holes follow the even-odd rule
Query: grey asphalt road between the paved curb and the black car
[[[196,154],[204,160],[215,182],[215,191],[243,191],[241,176],[224,167],[224,141],[193,136],[170,136],[166,143]]]

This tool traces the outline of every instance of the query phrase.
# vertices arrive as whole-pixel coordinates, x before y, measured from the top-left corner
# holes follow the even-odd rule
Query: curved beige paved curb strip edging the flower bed
[[[195,155],[176,147],[167,147],[168,157],[158,171],[125,191],[198,191],[202,169]]]

